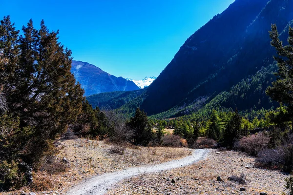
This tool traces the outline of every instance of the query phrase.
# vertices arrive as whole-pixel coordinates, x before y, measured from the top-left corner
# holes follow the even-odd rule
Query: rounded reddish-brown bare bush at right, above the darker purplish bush
[[[269,141],[270,137],[259,133],[249,137],[242,137],[239,142],[236,142],[235,147],[251,156],[257,156],[261,150],[268,146]]]

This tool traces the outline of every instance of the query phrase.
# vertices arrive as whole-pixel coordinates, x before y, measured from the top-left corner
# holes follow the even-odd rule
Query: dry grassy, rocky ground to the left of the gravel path
[[[26,187],[0,195],[63,195],[72,186],[92,176],[133,166],[158,164],[191,154],[187,148],[128,146],[123,151],[124,147],[121,146],[86,139],[66,140],[61,142],[59,147],[61,151],[57,159],[62,163],[57,163],[49,171],[34,173],[35,184],[32,188]],[[120,154],[110,151],[118,151]],[[64,165],[65,172],[54,173],[57,169],[62,170]]]

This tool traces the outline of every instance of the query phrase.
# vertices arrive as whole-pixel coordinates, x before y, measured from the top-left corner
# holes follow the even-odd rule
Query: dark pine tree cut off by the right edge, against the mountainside
[[[275,74],[277,79],[272,82],[266,90],[266,94],[273,100],[282,102],[287,106],[287,114],[283,116],[283,121],[293,121],[293,29],[289,27],[289,45],[284,46],[279,39],[279,33],[275,24],[272,25],[270,32],[272,39],[271,45],[276,49],[277,56],[273,58],[276,60],[279,67]]]

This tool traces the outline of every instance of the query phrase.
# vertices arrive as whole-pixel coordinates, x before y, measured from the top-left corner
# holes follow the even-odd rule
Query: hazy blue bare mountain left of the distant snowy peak
[[[82,61],[72,61],[71,72],[81,83],[85,96],[112,91],[133,91],[139,87],[132,81],[115,77],[95,65]]]

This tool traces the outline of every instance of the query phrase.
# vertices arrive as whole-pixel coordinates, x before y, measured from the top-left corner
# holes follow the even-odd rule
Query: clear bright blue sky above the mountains
[[[190,35],[234,0],[0,0],[16,27],[44,19],[75,60],[117,77],[158,76]],[[4,9],[3,9],[4,8]]]

